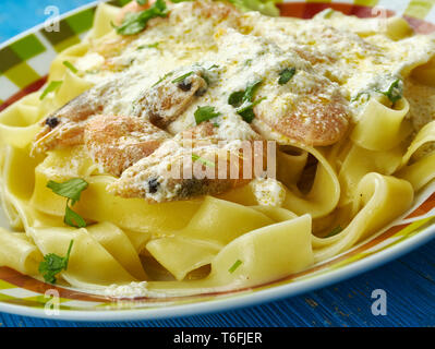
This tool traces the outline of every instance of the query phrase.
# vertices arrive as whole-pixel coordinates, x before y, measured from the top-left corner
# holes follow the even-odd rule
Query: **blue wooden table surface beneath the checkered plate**
[[[0,41],[89,0],[1,0]],[[131,323],[71,323],[0,313],[0,326],[434,326],[435,241],[341,284],[282,301],[218,314]],[[372,314],[372,291],[387,293],[387,315]]]

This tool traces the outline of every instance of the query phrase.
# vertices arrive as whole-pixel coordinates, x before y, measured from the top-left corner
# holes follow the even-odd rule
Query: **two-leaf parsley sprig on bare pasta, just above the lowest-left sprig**
[[[68,198],[63,219],[65,225],[75,228],[86,227],[86,221],[70,207],[70,204],[74,206],[77,201],[80,201],[82,192],[86,190],[88,185],[89,184],[81,178],[73,178],[63,183],[57,183],[55,181],[49,181],[47,183],[47,188],[51,189],[55,194]]]

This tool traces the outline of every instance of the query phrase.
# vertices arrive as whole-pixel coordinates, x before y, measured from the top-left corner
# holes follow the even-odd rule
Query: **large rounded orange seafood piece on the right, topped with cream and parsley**
[[[245,81],[246,86],[256,86],[251,97],[251,103],[257,101],[254,123],[259,119],[306,145],[327,146],[345,136],[350,112],[340,86],[317,74],[298,52],[233,29],[220,29],[215,36],[222,56],[232,62],[226,85],[240,86]],[[244,88],[231,92],[245,93]]]

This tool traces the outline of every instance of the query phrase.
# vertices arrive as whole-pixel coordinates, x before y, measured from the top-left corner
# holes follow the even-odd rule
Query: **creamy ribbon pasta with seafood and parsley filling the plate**
[[[414,205],[435,174],[435,36],[249,3],[98,5],[0,113],[0,266],[113,297],[242,289]]]

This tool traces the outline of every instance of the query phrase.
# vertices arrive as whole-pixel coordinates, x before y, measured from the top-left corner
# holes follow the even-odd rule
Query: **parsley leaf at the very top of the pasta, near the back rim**
[[[157,0],[149,9],[133,13],[125,14],[124,20],[120,26],[114,26],[120,35],[134,35],[145,29],[147,23],[152,19],[166,17],[168,14],[166,2]]]

